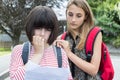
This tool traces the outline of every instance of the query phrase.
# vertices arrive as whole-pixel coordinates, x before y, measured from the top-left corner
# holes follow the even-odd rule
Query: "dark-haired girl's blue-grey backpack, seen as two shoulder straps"
[[[61,54],[61,48],[57,46],[53,46],[55,55],[57,56],[58,61],[58,67],[62,67],[62,54]],[[23,50],[22,50],[22,60],[24,65],[28,62],[28,56],[31,51],[31,43],[29,41],[23,43]]]

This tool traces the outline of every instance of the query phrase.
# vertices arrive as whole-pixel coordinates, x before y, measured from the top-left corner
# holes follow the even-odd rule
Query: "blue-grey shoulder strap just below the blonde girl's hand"
[[[57,47],[57,46],[53,46],[55,55],[57,57],[57,61],[58,61],[58,67],[61,68],[62,67],[62,54],[61,54],[61,48]]]

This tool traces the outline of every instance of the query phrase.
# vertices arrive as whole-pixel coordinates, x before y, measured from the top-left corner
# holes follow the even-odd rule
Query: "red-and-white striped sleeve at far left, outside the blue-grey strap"
[[[24,80],[24,64],[21,58],[22,45],[14,47],[11,54],[10,62],[10,79],[11,80]]]

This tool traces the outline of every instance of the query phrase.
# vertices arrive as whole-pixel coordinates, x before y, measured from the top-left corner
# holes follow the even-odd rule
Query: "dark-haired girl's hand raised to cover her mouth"
[[[35,53],[43,53],[44,52],[44,38],[40,36],[33,36],[33,47]]]

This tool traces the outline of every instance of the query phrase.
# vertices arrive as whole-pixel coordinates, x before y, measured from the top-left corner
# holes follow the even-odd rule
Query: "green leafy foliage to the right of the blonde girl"
[[[96,25],[103,31],[103,40],[120,47],[120,1],[87,0],[95,16]]]

